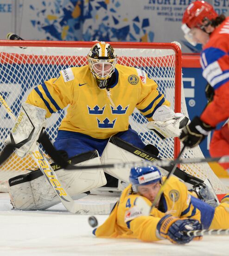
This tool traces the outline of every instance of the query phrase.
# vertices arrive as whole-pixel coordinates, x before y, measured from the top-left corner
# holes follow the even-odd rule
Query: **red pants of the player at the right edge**
[[[210,155],[220,157],[229,155],[229,126],[224,125],[221,129],[215,130],[210,142]],[[224,169],[229,170],[229,163],[219,163]]]

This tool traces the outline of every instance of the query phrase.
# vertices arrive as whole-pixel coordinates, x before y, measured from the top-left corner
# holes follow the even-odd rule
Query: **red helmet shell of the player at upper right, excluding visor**
[[[213,6],[205,1],[194,1],[185,10],[182,23],[187,27],[199,27],[206,25],[203,24],[204,20],[216,19],[218,14],[214,10]]]

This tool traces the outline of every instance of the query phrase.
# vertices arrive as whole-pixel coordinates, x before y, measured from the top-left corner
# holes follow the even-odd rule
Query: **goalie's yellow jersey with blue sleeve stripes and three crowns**
[[[88,65],[67,68],[34,88],[26,103],[46,109],[46,117],[69,105],[59,129],[98,139],[126,131],[135,107],[152,121],[157,108],[170,105],[144,71],[117,64],[114,72],[116,81],[107,90],[98,88]]]

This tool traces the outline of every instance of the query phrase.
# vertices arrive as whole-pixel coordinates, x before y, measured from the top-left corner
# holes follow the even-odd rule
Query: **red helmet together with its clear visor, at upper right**
[[[205,1],[194,1],[185,10],[181,29],[184,32],[184,38],[193,46],[197,45],[197,42],[193,39],[191,29],[196,27],[205,32],[205,27],[212,24],[212,20],[215,20],[218,14],[214,10],[213,6]]]

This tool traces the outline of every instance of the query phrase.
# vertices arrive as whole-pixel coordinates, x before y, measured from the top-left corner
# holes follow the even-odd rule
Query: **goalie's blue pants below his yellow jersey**
[[[131,128],[129,128],[127,131],[119,132],[115,136],[133,144],[138,148],[145,147],[145,144],[141,141],[137,132]],[[95,149],[101,156],[108,141],[109,138],[96,139],[82,133],[59,130],[57,139],[54,142],[54,147],[57,150],[65,150],[68,153],[68,157],[72,157],[74,155],[82,154]]]

